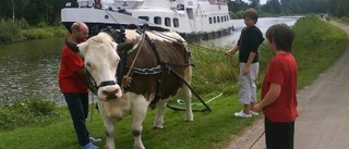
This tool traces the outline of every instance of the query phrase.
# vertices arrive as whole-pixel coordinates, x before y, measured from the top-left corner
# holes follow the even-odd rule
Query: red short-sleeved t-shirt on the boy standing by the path
[[[269,90],[270,83],[281,86],[279,97],[263,109],[264,115],[272,122],[292,122],[297,111],[297,63],[291,53],[275,55],[267,69],[262,86],[262,99]]]

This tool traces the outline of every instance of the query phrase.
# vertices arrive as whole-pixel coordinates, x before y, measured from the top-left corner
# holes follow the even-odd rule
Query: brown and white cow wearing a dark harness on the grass
[[[135,30],[127,29],[127,40],[120,45],[104,32],[86,42],[75,45],[76,52],[85,60],[86,71],[97,85],[98,107],[106,128],[108,149],[115,149],[116,122],[129,114],[132,116],[134,148],[144,149],[141,136],[147,108],[153,100],[158,99],[155,103],[157,112],[154,128],[163,128],[166,102],[180,87],[186,102],[185,121],[193,121],[192,95],[180,79],[182,77],[191,83],[192,71],[186,42],[172,32],[161,33],[163,36],[145,33],[149,40]],[[125,55],[127,60],[121,60],[119,54]],[[129,77],[129,86],[120,87],[121,85],[117,84],[116,76],[121,76],[117,74],[120,61],[124,61],[124,73],[129,70],[133,72]]]

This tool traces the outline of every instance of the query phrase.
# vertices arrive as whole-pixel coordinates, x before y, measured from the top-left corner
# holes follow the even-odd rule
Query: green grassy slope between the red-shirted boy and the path
[[[298,61],[299,87],[309,85],[346,50],[347,34],[316,16],[300,18],[293,52]]]

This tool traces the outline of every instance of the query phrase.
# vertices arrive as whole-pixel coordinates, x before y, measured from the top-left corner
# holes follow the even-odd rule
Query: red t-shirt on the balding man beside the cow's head
[[[62,48],[61,65],[58,74],[58,83],[61,92],[88,92],[85,76],[80,75],[76,72],[83,66],[84,60],[64,45]]]

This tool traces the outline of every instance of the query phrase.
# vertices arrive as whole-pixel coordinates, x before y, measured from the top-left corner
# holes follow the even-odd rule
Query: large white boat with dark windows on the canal
[[[84,22],[91,34],[101,28],[143,27],[176,30],[188,40],[212,39],[233,29],[226,0],[77,0],[61,10],[61,22],[70,30]]]

